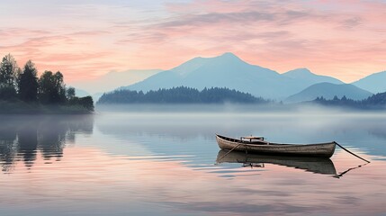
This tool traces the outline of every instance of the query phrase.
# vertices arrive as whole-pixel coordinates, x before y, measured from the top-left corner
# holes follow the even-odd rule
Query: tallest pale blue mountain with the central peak
[[[281,75],[265,67],[250,65],[232,53],[225,53],[214,58],[193,58],[178,67],[120,89],[148,92],[175,86],[198,90],[205,87],[227,87],[264,98],[284,99],[315,83],[328,80],[339,82],[328,76],[316,76],[310,71],[304,73],[304,70]]]

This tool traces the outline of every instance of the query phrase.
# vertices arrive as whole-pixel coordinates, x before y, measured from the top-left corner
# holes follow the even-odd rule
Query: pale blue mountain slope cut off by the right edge
[[[386,71],[366,76],[352,85],[358,86],[372,93],[386,92]]]

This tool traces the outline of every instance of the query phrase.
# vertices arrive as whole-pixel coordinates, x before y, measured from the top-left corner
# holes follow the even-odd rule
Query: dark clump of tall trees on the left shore
[[[46,70],[38,77],[38,70],[31,60],[21,68],[11,54],[4,56],[0,63],[1,101],[19,105],[39,103],[78,106],[88,112],[94,111],[93,98],[76,97],[75,89],[66,87],[62,73]]]

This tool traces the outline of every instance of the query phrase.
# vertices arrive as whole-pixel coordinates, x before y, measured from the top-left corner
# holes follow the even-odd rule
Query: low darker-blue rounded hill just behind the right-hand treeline
[[[333,99],[334,96],[350,98],[353,100],[363,100],[369,96],[373,95],[372,93],[365,91],[361,88],[356,87],[355,85],[349,84],[331,84],[331,83],[320,83],[311,85],[310,87],[304,89],[298,94],[293,94],[284,100],[285,103],[297,103],[303,101],[312,101],[317,97],[324,97],[325,99]]]

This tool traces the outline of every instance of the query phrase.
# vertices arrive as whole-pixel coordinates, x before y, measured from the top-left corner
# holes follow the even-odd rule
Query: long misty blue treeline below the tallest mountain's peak
[[[269,103],[252,94],[230,90],[225,87],[204,88],[199,91],[191,87],[173,87],[157,91],[116,90],[103,94],[97,103]]]

